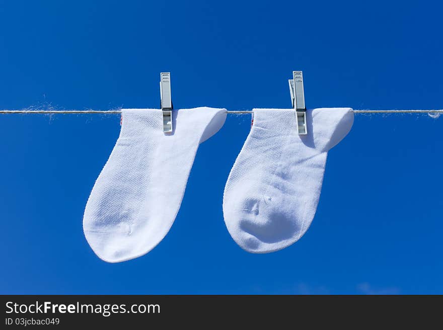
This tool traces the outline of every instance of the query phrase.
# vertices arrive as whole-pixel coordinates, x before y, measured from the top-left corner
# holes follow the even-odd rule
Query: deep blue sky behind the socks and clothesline
[[[441,109],[435,2],[1,2],[0,109]],[[82,217],[118,115],[0,116],[0,293],[443,293],[443,118],[358,115],[331,150],[305,236],[248,254],[223,190],[250,129],[229,116],[198,150],[176,221],[149,254],[98,259]]]

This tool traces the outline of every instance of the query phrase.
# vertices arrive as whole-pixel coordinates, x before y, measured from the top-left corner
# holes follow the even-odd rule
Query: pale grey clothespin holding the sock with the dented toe
[[[303,88],[303,72],[293,71],[293,79],[289,79],[289,91],[292,100],[292,108],[296,110],[297,132],[299,135],[308,134],[306,125],[305,90]]]

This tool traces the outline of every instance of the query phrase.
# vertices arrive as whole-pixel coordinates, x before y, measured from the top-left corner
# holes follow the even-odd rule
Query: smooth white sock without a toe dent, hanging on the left
[[[122,109],[122,127],[85,209],[83,229],[97,256],[115,263],[140,257],[166,236],[183,198],[198,144],[225,123],[226,109]]]

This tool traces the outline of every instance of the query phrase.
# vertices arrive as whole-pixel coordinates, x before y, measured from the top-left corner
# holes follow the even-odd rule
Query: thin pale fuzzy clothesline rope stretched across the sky
[[[426,113],[443,114],[440,110],[353,110],[354,113]],[[121,110],[0,110],[0,114],[119,114]],[[249,114],[251,110],[232,110],[229,114]]]

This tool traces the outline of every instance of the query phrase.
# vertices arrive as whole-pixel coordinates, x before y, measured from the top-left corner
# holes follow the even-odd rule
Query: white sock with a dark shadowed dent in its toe
[[[242,249],[274,252],[299,240],[314,218],[326,156],[346,136],[349,108],[307,111],[298,135],[294,110],[254,109],[254,123],[228,178],[223,213]]]

